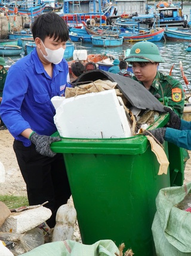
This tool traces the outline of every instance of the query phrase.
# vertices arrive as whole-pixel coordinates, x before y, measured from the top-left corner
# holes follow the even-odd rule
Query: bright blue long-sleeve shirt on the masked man
[[[64,96],[70,87],[69,68],[65,59],[53,66],[53,77],[44,70],[36,49],[21,58],[8,71],[4,86],[0,115],[8,130],[24,146],[31,142],[21,132],[27,128],[41,135],[51,135],[56,110],[51,103],[54,96]]]

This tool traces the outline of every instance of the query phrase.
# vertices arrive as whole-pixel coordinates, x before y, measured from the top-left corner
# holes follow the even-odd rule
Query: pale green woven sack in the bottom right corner
[[[183,186],[164,188],[156,197],[152,224],[156,255],[191,256],[191,182]]]

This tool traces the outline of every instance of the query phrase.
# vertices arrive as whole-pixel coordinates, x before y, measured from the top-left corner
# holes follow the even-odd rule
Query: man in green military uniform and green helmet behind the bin
[[[156,44],[141,41],[131,48],[130,55],[125,58],[133,68],[133,79],[143,85],[157,98],[165,100],[168,106],[181,118],[184,109],[184,91],[181,83],[171,76],[158,71],[162,59]]]

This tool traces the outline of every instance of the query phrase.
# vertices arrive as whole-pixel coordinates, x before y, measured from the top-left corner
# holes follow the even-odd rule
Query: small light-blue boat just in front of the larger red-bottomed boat
[[[91,42],[93,46],[98,47],[115,47],[122,46],[124,37],[120,35],[112,36],[112,35],[92,35]]]

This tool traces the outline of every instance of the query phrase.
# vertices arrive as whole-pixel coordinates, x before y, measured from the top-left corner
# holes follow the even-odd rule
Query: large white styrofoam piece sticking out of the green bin
[[[54,122],[61,137],[125,138],[131,129],[115,89],[65,99]]]

